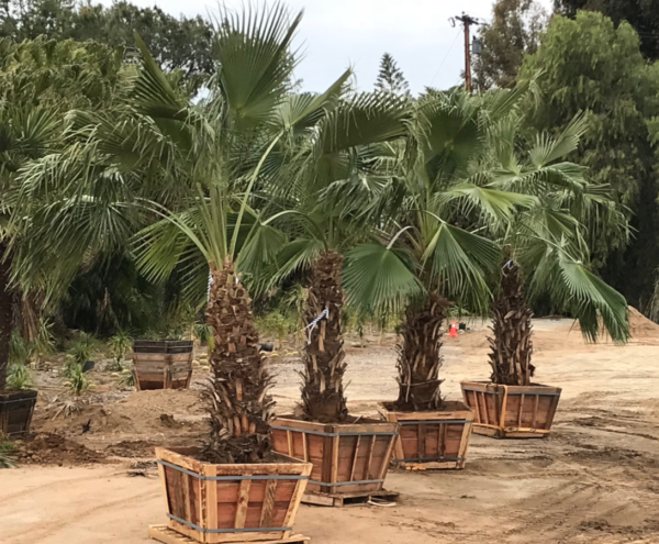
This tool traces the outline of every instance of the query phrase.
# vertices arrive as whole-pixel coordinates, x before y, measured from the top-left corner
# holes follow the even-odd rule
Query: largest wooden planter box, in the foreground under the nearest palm
[[[202,543],[279,541],[292,534],[311,465],[213,465],[156,448],[169,528]]]

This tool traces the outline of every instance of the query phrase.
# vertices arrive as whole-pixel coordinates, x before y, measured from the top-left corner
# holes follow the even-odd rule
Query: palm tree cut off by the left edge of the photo
[[[123,53],[123,52],[122,52]],[[70,108],[94,109],[123,90],[121,54],[98,44],[45,38],[15,44],[0,41],[0,390],[5,387],[14,308],[33,298],[13,285],[21,230],[10,222],[22,168],[58,148],[63,119]],[[38,323],[38,314],[35,317]]]

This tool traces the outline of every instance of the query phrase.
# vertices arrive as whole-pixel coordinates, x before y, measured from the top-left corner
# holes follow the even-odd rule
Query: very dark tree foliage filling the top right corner
[[[557,13],[574,18],[579,10],[599,11],[618,25],[627,21],[640,37],[646,58],[659,59],[659,1],[657,0],[554,0]]]

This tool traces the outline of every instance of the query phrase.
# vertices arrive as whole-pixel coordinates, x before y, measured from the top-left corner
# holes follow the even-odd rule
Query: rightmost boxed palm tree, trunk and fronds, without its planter
[[[607,188],[592,186],[584,168],[565,160],[585,131],[583,116],[577,115],[556,137],[537,135],[524,158],[514,148],[521,121],[500,127],[488,179],[492,187],[534,199],[498,236],[505,257],[493,304],[490,365],[492,381],[507,386],[530,385],[535,370],[525,284],[532,298],[545,295],[557,311],[578,318],[587,340],[597,341],[602,323],[615,342],[629,337],[626,301],[589,270],[587,240],[605,224],[616,237],[608,243],[624,246],[627,221]]]

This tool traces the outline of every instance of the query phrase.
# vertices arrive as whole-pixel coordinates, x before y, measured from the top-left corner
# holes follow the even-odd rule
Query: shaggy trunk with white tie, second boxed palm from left
[[[342,269],[343,257],[337,252],[325,252],[319,257],[304,314],[309,326],[324,310],[328,311],[328,315],[306,329],[304,351],[302,409],[306,419],[321,423],[340,423],[348,415],[343,386],[346,354],[340,334]]]

